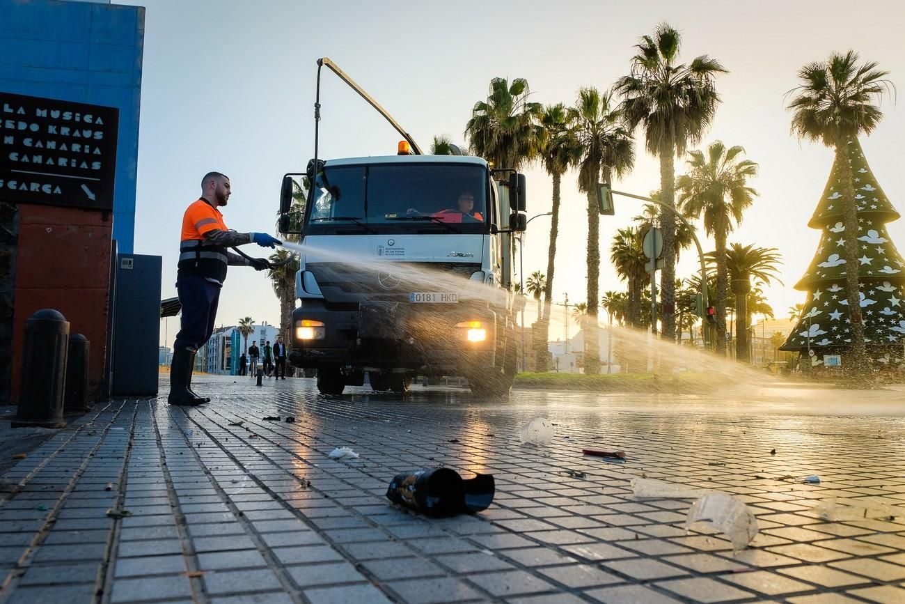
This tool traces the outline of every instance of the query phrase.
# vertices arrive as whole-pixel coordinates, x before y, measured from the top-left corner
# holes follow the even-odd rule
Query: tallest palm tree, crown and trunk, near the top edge
[[[644,129],[646,149],[660,158],[662,202],[674,206],[674,158],[685,155],[690,145],[700,142],[717,110],[719,95],[714,79],[726,73],[723,66],[706,54],[691,63],[679,63],[681,34],[669,24],[659,24],[653,36],[644,35],[635,46],[631,71],[616,82],[623,97],[625,119],[634,129]],[[661,276],[663,308],[675,302],[675,219],[663,211],[665,266]],[[675,316],[663,316],[662,337],[672,340]]]

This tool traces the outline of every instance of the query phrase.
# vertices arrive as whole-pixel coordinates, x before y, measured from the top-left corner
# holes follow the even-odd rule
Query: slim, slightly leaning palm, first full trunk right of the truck
[[[580,157],[581,149],[572,127],[570,113],[562,103],[548,105],[540,116],[540,124],[544,128],[543,145],[539,157],[544,169],[553,178],[553,207],[550,211],[550,243],[547,251],[547,283],[544,286],[543,342],[549,340],[550,312],[553,300],[553,274],[556,268],[557,236],[559,235],[559,203],[560,183],[563,174]],[[546,365],[546,355],[537,355],[538,362]],[[539,367],[538,370],[547,370]]]

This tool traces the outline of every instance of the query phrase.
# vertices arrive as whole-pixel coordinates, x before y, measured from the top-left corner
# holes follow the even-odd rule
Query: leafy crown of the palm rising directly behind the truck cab
[[[472,150],[492,168],[519,169],[535,157],[542,142],[538,123],[542,106],[529,102],[528,81],[493,78],[486,101],[477,101],[465,137]]]

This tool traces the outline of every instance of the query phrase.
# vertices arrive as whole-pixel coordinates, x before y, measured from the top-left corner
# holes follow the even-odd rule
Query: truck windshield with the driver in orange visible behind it
[[[328,163],[315,181],[306,232],[484,233],[488,221],[481,166]]]

